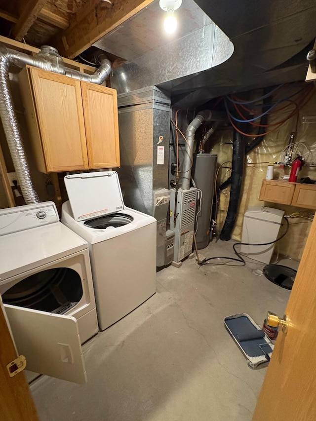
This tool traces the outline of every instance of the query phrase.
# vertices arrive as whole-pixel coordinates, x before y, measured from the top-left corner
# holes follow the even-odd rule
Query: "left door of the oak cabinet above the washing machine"
[[[46,172],[88,168],[80,81],[29,67]]]

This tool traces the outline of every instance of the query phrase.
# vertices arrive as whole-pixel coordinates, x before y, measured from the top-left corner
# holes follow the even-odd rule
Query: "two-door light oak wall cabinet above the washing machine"
[[[19,82],[41,172],[119,167],[115,89],[31,66]]]

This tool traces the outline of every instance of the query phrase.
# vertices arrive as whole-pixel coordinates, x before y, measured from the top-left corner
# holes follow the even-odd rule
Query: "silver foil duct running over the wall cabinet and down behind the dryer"
[[[76,70],[65,69],[58,51],[44,45],[37,57],[0,46],[0,117],[8,147],[12,156],[15,172],[20,181],[21,191],[27,204],[40,201],[34,189],[30,169],[25,155],[23,142],[13,107],[13,98],[9,80],[9,67],[15,65],[22,68],[25,65],[38,67],[55,73],[101,84],[111,72],[111,62],[107,59],[101,61],[99,69],[93,75],[86,75]]]

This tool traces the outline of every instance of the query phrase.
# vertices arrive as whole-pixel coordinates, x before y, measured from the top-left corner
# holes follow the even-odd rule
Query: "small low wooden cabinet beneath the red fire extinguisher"
[[[316,209],[316,185],[263,180],[259,200]]]

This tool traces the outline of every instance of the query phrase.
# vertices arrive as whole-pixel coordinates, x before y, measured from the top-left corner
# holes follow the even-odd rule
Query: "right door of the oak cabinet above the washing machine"
[[[119,167],[117,91],[81,82],[89,168]]]

